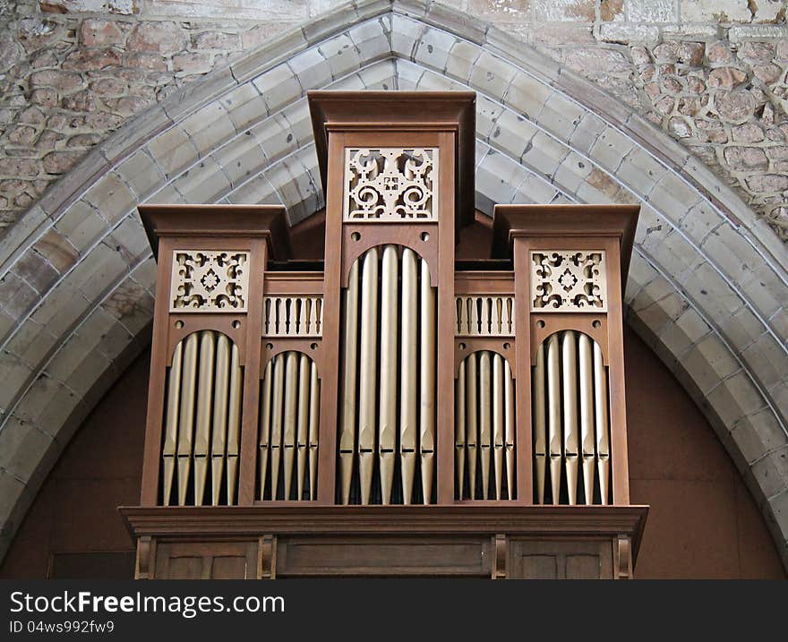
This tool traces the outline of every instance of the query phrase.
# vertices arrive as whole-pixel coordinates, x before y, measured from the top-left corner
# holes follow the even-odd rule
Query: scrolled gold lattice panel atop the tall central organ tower
[[[438,150],[345,150],[345,220],[438,218]]]

